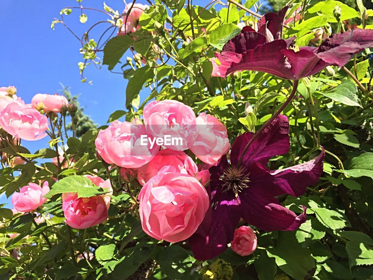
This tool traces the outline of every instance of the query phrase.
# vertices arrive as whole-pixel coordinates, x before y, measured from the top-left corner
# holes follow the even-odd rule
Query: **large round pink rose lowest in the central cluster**
[[[159,172],[138,195],[142,229],[155,239],[179,242],[190,237],[209,208],[198,180],[178,172]]]

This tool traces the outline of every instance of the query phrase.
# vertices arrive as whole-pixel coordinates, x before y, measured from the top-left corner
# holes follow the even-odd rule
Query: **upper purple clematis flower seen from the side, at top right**
[[[215,53],[221,63],[220,75],[235,71],[266,72],[288,80],[313,75],[326,66],[344,66],[355,53],[373,47],[372,29],[353,29],[333,34],[320,47],[292,48],[295,36],[282,39],[283,22],[289,6],[278,13],[266,13],[257,22],[229,40],[222,52]]]

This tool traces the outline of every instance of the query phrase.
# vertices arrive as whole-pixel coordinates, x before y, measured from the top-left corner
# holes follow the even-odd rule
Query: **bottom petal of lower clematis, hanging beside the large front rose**
[[[195,233],[188,239],[194,257],[199,260],[213,259],[224,252],[228,248],[228,243],[233,240],[235,227],[240,218],[239,200],[233,193],[226,195],[226,200],[216,203],[208,233]]]

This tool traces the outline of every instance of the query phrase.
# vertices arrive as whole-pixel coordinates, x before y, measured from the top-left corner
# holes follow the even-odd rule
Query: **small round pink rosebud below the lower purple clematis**
[[[236,228],[231,242],[231,248],[235,253],[241,256],[251,255],[256,249],[256,245],[257,238],[250,227],[242,225],[242,227]]]

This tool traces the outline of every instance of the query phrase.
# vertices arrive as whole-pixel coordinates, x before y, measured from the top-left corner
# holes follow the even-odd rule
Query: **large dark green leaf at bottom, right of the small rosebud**
[[[301,248],[291,232],[279,232],[276,248],[267,249],[267,255],[275,257],[278,267],[295,280],[308,279],[313,275],[315,261],[310,250]]]

